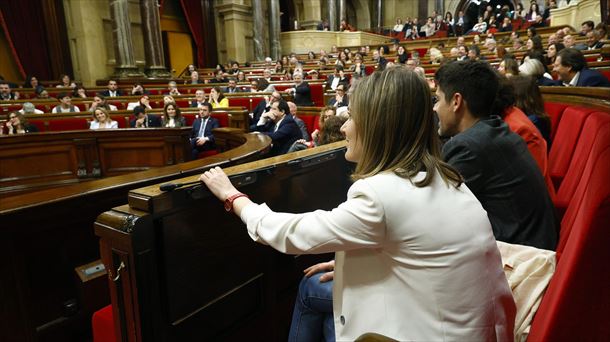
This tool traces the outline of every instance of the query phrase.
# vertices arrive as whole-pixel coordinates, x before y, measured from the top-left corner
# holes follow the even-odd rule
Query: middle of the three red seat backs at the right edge
[[[557,189],[555,207],[559,212],[563,213],[570,201],[578,200],[574,197],[578,184],[589,181],[590,174],[583,174],[587,160],[608,147],[610,147],[610,113],[591,113],[582,128],[568,171]]]

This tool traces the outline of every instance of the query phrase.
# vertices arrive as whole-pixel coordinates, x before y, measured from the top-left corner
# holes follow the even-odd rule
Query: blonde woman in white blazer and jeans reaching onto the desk
[[[388,68],[364,78],[351,105],[342,131],[357,181],[332,211],[276,213],[220,168],[200,178],[253,240],[289,254],[335,252],[334,303],[310,301],[308,283],[320,280],[308,272],[288,340],[354,341],[371,331],[398,341],[512,340],[515,303],[490,222],[441,160],[426,82]],[[329,312],[315,319],[322,301]]]

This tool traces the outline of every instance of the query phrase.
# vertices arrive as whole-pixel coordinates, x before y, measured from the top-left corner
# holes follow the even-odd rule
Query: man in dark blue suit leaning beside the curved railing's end
[[[284,100],[273,102],[271,110],[261,115],[256,131],[271,138],[272,156],[285,154],[295,141],[301,139],[301,131],[292,119],[290,108]]]

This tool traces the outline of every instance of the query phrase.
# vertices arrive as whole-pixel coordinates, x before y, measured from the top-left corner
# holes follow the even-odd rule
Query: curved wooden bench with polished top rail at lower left
[[[86,303],[74,269],[100,258],[95,218],[125,203],[132,189],[257,160],[270,148],[266,136],[224,130],[217,143],[237,147],[212,157],[0,197],[0,341],[90,339],[90,310],[99,307]],[[103,298],[104,291],[92,296]]]

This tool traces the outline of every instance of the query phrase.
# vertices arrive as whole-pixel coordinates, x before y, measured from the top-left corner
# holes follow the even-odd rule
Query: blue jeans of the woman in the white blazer
[[[292,313],[288,341],[335,341],[333,282],[320,282],[325,272],[303,277]]]

